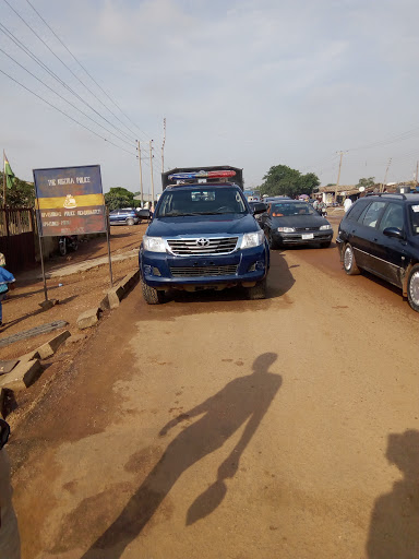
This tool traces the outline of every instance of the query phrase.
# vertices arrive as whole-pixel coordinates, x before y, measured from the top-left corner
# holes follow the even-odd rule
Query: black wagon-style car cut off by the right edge
[[[357,200],[336,239],[348,275],[367,270],[396,285],[419,312],[419,194],[373,194]]]

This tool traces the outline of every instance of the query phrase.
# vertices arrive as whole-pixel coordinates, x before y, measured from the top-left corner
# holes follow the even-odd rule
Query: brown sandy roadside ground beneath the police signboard
[[[129,253],[131,258],[113,261],[113,283],[118,283],[128,272],[137,267],[137,249],[144,235],[146,224],[128,227],[111,227],[111,258],[118,259]],[[72,333],[79,333],[75,321],[86,309],[98,306],[105,293],[110,287],[109,265],[104,264],[89,270],[83,270],[83,264],[94,264],[96,259],[108,254],[106,238],[94,238],[81,242],[76,252],[67,257],[57,255],[46,263],[47,288],[50,299],[58,299],[59,305],[41,311],[39,302],[45,300],[44,283],[40,266],[25,272],[16,277],[16,288],[11,290],[3,301],[3,322],[0,336],[4,338],[12,334],[32,328],[65,320]],[[79,270],[76,270],[76,267]],[[68,272],[72,272],[68,275]],[[0,348],[0,358],[9,359],[28,353],[52,337],[55,333],[32,337]]]

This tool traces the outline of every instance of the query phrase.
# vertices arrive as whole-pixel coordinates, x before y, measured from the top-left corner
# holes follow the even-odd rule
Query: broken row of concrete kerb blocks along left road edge
[[[103,311],[116,309],[121,300],[139,283],[140,271],[135,270],[128,274],[117,286],[108,290],[98,307],[84,311],[76,320],[79,330],[96,325]],[[79,342],[84,340],[85,334],[71,335],[68,330],[39,346],[37,349],[23,355],[19,359],[0,361],[0,414],[2,417],[9,414],[8,402],[13,400],[13,392],[29,388],[44,372],[43,359],[51,357],[64,343]]]

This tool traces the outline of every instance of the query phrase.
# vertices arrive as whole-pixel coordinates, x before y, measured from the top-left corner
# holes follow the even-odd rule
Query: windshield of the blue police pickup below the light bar
[[[157,217],[246,213],[248,210],[237,189],[206,186],[164,192]]]

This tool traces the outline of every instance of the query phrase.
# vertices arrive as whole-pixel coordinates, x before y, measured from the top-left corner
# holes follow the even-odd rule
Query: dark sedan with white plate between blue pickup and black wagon
[[[300,200],[283,200],[267,204],[260,219],[271,249],[291,245],[330,247],[332,225],[313,207]]]

